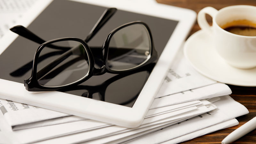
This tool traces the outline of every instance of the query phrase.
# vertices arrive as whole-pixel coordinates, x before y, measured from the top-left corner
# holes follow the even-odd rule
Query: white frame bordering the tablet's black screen
[[[27,27],[51,1],[52,0],[45,0],[37,3],[33,9],[29,10],[26,18],[22,19],[18,24]],[[116,7],[124,11],[179,21],[133,107],[130,108],[57,91],[28,92],[23,84],[4,79],[0,79],[0,97],[110,124],[125,127],[139,126],[163,83],[176,52],[188,35],[190,28],[193,26],[196,20],[196,13],[184,8],[158,4],[153,0],[126,0],[122,1],[122,3],[118,0],[73,1],[105,7]],[[0,53],[2,53],[17,36],[17,34],[11,31],[6,33],[0,39]]]

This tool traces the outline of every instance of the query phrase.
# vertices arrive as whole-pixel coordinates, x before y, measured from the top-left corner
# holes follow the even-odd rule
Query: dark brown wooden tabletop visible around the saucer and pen
[[[253,5],[256,6],[256,0],[156,0],[158,3],[169,4],[173,6],[188,8],[194,10],[198,13],[201,9],[207,6],[212,6],[217,10],[220,10],[223,7],[230,5]],[[256,13],[255,13],[256,15]],[[212,18],[210,16],[206,16],[208,22],[212,23]],[[200,28],[197,23],[193,26],[189,36],[198,31]],[[256,75],[256,74],[255,74]],[[242,86],[234,86],[228,85],[232,94],[230,95],[234,100],[238,101],[242,105],[244,105],[248,110],[249,114],[237,117],[236,119],[239,121],[239,124],[224,130],[212,132],[210,134],[206,134],[204,136],[195,138],[193,140],[186,141],[184,143],[221,143],[221,141],[235,129],[252,119],[256,116],[256,87],[242,87]],[[243,144],[251,144],[256,143],[256,129],[252,132],[248,133],[244,137],[236,140],[233,143],[243,143]]]

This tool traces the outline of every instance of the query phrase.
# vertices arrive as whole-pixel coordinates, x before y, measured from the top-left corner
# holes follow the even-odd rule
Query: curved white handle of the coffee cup
[[[197,23],[198,23],[199,27],[202,30],[205,30],[210,35],[212,35],[212,29],[205,18],[205,14],[209,14],[212,17],[212,21],[213,21],[213,18],[215,17],[217,12],[218,12],[218,10],[216,10],[213,7],[208,6],[208,7],[203,8],[200,12],[198,12],[198,15],[197,15]]]

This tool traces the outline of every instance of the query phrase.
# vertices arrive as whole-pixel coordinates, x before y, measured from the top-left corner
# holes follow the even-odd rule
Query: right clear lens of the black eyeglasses
[[[147,28],[133,24],[118,30],[111,37],[108,50],[108,66],[112,70],[127,70],[145,63],[151,52],[151,40]]]

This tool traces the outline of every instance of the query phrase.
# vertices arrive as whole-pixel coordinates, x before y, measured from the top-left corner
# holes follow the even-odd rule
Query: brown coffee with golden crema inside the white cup
[[[241,36],[256,36],[256,23],[250,20],[234,20],[221,26],[222,29]]]

